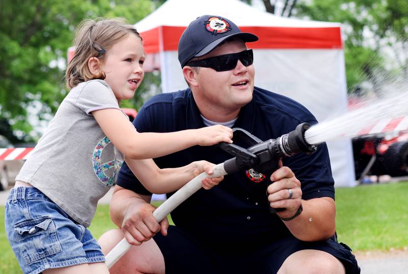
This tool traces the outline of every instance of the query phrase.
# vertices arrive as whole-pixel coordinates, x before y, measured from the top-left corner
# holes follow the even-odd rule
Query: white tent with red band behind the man
[[[278,17],[238,0],[217,4],[200,0],[168,0],[136,23],[148,54],[146,70],[160,69],[163,92],[187,87],[177,43],[188,24],[204,15],[234,21],[260,39],[254,49],[255,85],[281,93],[307,107],[319,121],[347,109],[344,53],[339,23]],[[328,142],[336,186],[353,186],[350,140]]]

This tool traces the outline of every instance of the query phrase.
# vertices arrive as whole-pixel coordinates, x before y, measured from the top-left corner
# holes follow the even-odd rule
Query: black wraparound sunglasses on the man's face
[[[224,54],[220,56],[210,57],[202,60],[191,61],[186,66],[192,67],[211,67],[216,71],[226,71],[234,69],[237,66],[238,60],[244,66],[250,66],[253,63],[252,49],[240,53]]]

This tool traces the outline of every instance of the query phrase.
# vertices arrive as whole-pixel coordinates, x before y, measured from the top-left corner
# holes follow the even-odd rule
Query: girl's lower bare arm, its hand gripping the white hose
[[[156,194],[175,191],[203,171],[211,175],[213,173],[212,166],[214,166],[207,161],[196,161],[182,167],[160,169],[151,159],[133,160],[125,157],[124,160],[143,186],[151,193]],[[205,189],[210,189],[218,185],[223,178],[223,176],[206,178],[201,181],[202,186]]]

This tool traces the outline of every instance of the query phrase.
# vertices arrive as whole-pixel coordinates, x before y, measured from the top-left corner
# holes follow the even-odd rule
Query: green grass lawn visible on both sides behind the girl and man
[[[337,234],[353,251],[408,246],[408,182],[336,189]],[[90,230],[99,238],[115,228],[109,205],[99,205]],[[0,207],[0,274],[21,273],[4,230]]]

